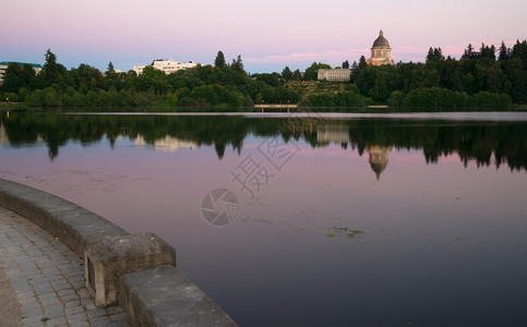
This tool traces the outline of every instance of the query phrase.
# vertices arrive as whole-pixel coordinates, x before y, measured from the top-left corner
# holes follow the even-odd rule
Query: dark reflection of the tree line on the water
[[[4,136],[11,146],[45,142],[50,158],[69,141],[86,145],[104,136],[113,146],[119,137],[146,144],[166,137],[214,146],[219,159],[231,147],[240,153],[243,140],[274,135],[288,142],[304,140],[312,147],[339,144],[360,155],[381,158],[375,149],[422,149],[428,164],[457,153],[460,160],[478,166],[507,165],[512,170],[527,168],[527,124],[525,122],[454,122],[396,119],[321,120],[301,118],[243,118],[239,116],[1,116]],[[373,154],[373,155],[372,155]],[[387,158],[387,156],[386,156]],[[375,161],[375,158],[374,158]],[[376,166],[375,166],[376,165]],[[373,166],[381,169],[382,165]],[[372,169],[373,169],[372,166]],[[373,169],[376,173],[376,170]]]

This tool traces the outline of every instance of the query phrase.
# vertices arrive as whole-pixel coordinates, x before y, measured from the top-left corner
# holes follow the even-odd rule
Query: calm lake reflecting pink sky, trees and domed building
[[[527,113],[0,117],[0,178],[158,234],[240,326],[527,324]]]

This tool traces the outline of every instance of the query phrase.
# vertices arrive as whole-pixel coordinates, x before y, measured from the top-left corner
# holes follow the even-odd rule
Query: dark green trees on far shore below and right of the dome
[[[499,53],[498,58],[495,53]],[[514,47],[468,45],[459,60],[430,48],[426,63],[362,66],[351,82],[363,96],[392,107],[507,107],[527,102],[527,41]]]

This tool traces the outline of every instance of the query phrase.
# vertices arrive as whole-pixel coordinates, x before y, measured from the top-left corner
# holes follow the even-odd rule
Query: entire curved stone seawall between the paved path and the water
[[[41,226],[83,257],[96,305],[120,305],[133,325],[237,326],[176,269],[176,251],[155,234],[130,234],[71,202],[2,179],[0,206]]]

